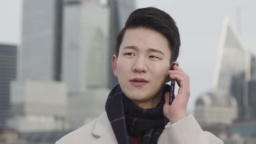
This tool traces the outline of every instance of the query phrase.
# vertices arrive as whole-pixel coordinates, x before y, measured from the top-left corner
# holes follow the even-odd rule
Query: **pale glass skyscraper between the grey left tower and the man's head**
[[[108,87],[109,8],[97,1],[66,1],[62,80],[69,95]]]

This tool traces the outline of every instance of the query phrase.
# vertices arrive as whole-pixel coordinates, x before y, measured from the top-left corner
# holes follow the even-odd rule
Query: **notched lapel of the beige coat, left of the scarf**
[[[114,131],[109,123],[107,113],[104,112],[97,118],[92,135],[99,137],[94,144],[97,143],[118,143],[115,139]]]

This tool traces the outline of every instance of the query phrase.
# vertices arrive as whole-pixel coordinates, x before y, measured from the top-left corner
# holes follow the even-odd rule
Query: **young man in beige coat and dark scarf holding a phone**
[[[187,114],[189,76],[176,62],[179,46],[170,15],[156,8],[133,11],[117,36],[112,68],[119,85],[108,95],[106,112],[56,143],[223,143]],[[171,105],[170,79],[179,85]]]

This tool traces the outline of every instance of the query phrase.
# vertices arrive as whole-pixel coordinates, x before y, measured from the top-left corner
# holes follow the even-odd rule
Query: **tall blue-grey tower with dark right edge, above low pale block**
[[[62,0],[23,1],[19,80],[60,80]]]

